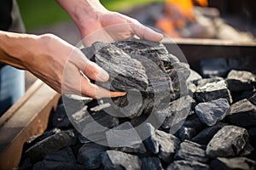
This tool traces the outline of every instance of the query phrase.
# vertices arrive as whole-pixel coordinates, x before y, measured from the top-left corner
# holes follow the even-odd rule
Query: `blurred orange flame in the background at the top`
[[[207,6],[207,0],[166,0],[165,14],[156,22],[156,27],[168,36],[180,37],[176,29],[186,26],[187,21],[195,21],[194,3]]]

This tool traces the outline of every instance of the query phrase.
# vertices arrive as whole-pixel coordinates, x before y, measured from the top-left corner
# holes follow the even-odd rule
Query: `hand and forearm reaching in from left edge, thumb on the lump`
[[[108,81],[108,73],[84,57],[78,48],[59,37],[0,31],[0,40],[0,61],[31,71],[60,94],[79,94],[92,98],[126,94],[109,92],[91,83],[89,78],[100,82]]]

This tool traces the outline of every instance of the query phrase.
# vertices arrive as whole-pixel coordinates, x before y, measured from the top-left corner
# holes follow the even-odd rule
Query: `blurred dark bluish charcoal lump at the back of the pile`
[[[203,59],[200,65],[203,77],[226,77],[231,69],[238,67],[238,61],[224,58]]]

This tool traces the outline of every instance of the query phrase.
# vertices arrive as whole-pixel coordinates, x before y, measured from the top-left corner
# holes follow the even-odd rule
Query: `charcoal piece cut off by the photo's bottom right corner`
[[[223,169],[253,169],[255,168],[256,161],[250,160],[246,157],[234,157],[234,158],[225,158],[218,157],[211,162],[212,170],[223,170]]]

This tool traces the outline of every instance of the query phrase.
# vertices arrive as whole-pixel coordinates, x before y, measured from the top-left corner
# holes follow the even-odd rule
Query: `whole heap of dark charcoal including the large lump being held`
[[[82,51],[110,75],[96,84],[128,93],[63,95],[18,169],[256,169],[256,79],[236,61],[206,59],[199,74],[160,42]]]

